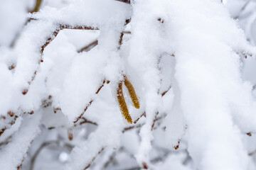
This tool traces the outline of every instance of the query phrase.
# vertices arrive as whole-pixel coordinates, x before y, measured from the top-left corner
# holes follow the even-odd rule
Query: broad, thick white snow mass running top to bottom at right
[[[175,77],[188,123],[188,152],[200,169],[246,169],[248,157],[241,132],[234,124],[242,131],[247,130],[250,121],[241,117],[246,114],[250,120],[255,118],[255,100],[250,94],[252,86],[241,80],[240,57],[233,48],[252,51],[255,48],[247,45],[242,31],[220,4],[211,1],[183,4],[173,3],[177,18],[186,11],[184,20],[173,19],[176,23],[173,35],[177,39]],[[195,12],[191,8],[196,5],[200,8]],[[197,24],[192,20],[195,16]],[[234,113],[233,107],[240,109]],[[253,126],[250,124],[250,128]]]

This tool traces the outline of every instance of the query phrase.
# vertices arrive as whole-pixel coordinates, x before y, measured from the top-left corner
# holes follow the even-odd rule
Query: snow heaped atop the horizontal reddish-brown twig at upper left
[[[101,6],[98,6],[101,4]],[[92,8],[94,10],[92,10]],[[112,9],[115,10],[112,10]],[[109,23],[124,24],[125,19],[129,17],[129,5],[112,0],[95,0],[95,1],[75,1],[69,6],[58,10],[57,8],[43,8],[40,13],[32,15],[33,18],[41,20],[51,20],[71,26],[91,26],[101,27]]]

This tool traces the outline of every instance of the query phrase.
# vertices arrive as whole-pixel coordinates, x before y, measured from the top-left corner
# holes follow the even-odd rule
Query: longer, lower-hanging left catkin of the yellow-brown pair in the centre
[[[122,81],[119,82],[118,88],[117,88],[117,100],[119,103],[119,108],[122,112],[122,115],[124,115],[124,118],[127,120],[128,123],[132,124],[132,117],[129,115],[129,111],[127,108],[127,103],[124,100],[124,94],[122,91]]]

